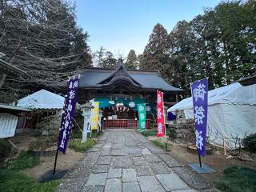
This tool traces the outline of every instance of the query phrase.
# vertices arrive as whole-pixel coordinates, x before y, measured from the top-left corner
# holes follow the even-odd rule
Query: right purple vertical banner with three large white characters
[[[194,108],[195,145],[198,149],[198,154],[204,157],[206,150],[208,79],[204,78],[193,82],[191,89]]]

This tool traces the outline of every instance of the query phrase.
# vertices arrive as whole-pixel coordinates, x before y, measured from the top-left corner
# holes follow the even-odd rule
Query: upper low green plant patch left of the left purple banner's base
[[[22,150],[17,158],[10,162],[10,170],[24,170],[39,164],[39,158],[30,150]]]

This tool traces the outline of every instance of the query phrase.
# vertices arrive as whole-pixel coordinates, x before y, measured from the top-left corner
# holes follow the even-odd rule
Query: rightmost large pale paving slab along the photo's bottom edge
[[[190,187],[177,174],[157,174],[157,178],[167,191],[190,190]]]

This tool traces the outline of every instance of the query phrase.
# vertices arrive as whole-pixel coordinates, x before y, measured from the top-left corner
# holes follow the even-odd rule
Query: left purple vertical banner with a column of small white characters
[[[64,113],[62,114],[61,128],[58,134],[58,150],[66,153],[67,142],[73,125],[75,106],[78,98],[79,78],[70,78],[66,86]]]

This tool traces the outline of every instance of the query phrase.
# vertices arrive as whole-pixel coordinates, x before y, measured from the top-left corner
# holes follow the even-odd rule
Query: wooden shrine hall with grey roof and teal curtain
[[[63,84],[64,87],[64,84]],[[78,103],[99,102],[103,129],[138,128],[138,106],[146,103],[146,128],[156,118],[156,91],[164,93],[166,107],[178,102],[182,89],[168,84],[157,70],[90,68],[80,73]]]

